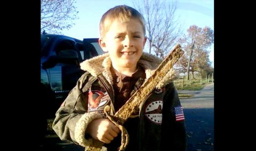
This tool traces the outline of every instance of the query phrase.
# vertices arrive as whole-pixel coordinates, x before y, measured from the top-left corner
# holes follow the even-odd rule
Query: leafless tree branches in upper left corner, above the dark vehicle
[[[60,30],[70,29],[78,19],[74,0],[41,0],[41,32],[61,34]]]

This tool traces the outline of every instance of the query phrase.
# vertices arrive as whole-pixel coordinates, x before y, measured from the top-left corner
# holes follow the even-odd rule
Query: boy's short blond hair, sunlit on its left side
[[[145,21],[143,16],[134,8],[126,6],[126,5],[119,5],[109,9],[102,15],[100,20],[100,36],[103,38],[105,34],[108,32],[111,23],[113,21],[118,20],[120,22],[127,22],[131,19],[138,19],[142,25],[144,35],[146,34],[145,29]]]

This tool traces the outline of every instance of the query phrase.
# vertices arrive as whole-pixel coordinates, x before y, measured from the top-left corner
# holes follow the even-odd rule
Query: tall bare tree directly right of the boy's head
[[[181,25],[174,19],[177,2],[133,0],[133,4],[145,18],[149,53],[153,48],[156,56],[164,58],[182,32]]]

